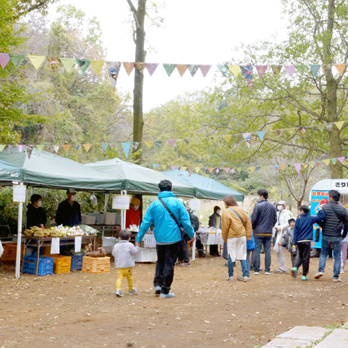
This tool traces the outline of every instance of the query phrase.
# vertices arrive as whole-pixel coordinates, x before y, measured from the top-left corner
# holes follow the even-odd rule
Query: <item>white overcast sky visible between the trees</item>
[[[129,27],[123,23],[129,11],[126,0],[61,0],[58,4],[69,3],[101,23],[106,60],[134,62],[135,45]],[[137,1],[133,3],[136,6]],[[50,14],[54,15],[56,6],[51,6]],[[213,66],[205,79],[200,71],[192,78],[188,70],[180,77],[176,69],[168,77],[162,65],[152,77],[145,71],[144,111],[211,85],[216,64],[230,60],[232,47],[264,40],[274,33],[284,38],[286,23],[282,16],[280,0],[167,0],[161,10],[164,26],[146,29],[146,39],[157,51],[148,53],[146,61]],[[122,67],[117,88],[132,92],[133,86],[134,72],[128,77]]]

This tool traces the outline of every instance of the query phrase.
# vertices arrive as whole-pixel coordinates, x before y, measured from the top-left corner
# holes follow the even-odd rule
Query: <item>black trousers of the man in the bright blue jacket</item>
[[[174,267],[179,251],[179,242],[156,245],[157,263],[154,285],[161,287],[161,294],[168,294],[173,283]]]

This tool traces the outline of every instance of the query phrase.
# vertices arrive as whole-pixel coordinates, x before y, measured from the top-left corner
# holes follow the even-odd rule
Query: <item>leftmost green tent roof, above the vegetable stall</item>
[[[6,162],[8,166],[21,168],[22,178],[17,177],[15,180],[26,182],[31,186],[53,189],[72,187],[84,191],[122,189],[110,175],[95,171],[71,159],[45,151],[40,152],[36,148],[33,148],[30,159],[25,150],[19,152],[17,149],[12,149],[10,152],[7,150],[0,152],[0,160]]]

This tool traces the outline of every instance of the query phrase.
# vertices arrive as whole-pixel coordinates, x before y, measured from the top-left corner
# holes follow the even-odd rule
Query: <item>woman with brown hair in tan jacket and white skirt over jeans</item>
[[[248,281],[246,265],[246,241],[253,235],[251,221],[243,208],[238,207],[234,196],[223,198],[226,209],[221,216],[221,230],[224,242],[228,244],[228,278],[233,281],[233,267],[236,260],[242,264],[243,280]]]

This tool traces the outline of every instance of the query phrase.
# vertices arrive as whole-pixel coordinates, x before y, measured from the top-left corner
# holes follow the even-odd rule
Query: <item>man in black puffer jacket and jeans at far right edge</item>
[[[322,251],[319,257],[319,271],[315,274],[315,279],[324,276],[326,258],[329,255],[330,244],[332,244],[333,256],[335,258],[333,281],[342,281],[340,279],[341,243],[348,232],[348,214],[345,207],[338,204],[340,196],[340,192],[331,190],[329,191],[329,204],[322,205],[326,217],[322,223],[318,223],[322,227]],[[342,229],[343,233],[341,234]]]

